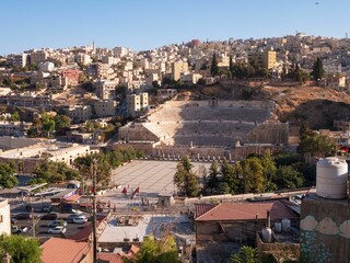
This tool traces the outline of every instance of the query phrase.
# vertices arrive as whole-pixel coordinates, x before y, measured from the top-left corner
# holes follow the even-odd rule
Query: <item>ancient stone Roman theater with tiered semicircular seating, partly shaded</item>
[[[119,141],[148,157],[196,160],[241,159],[288,145],[289,126],[271,101],[167,101],[119,129]]]

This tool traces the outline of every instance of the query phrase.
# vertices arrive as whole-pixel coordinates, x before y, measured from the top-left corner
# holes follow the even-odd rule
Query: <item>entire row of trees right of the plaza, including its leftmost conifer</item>
[[[313,165],[301,162],[292,153],[272,156],[269,151],[233,164],[212,162],[201,182],[188,157],[184,157],[174,174],[178,193],[186,196],[271,192],[310,186],[314,181]]]

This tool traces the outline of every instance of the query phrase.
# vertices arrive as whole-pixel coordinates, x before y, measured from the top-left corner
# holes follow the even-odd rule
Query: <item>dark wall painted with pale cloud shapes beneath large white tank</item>
[[[305,262],[349,262],[350,204],[306,198],[301,207],[301,259]]]

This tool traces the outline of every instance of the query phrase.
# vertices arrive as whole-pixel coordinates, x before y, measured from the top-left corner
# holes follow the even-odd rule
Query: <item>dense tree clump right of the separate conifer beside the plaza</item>
[[[295,164],[277,164],[275,157],[266,152],[264,156],[252,156],[234,164],[223,162],[219,167],[213,162],[203,179],[203,193],[261,193],[298,188],[303,185],[303,174]]]

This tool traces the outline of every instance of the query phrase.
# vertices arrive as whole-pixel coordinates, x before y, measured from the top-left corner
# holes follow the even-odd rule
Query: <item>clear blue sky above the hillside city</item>
[[[93,41],[144,50],[295,31],[341,38],[350,36],[349,10],[349,0],[0,0],[0,55]]]

